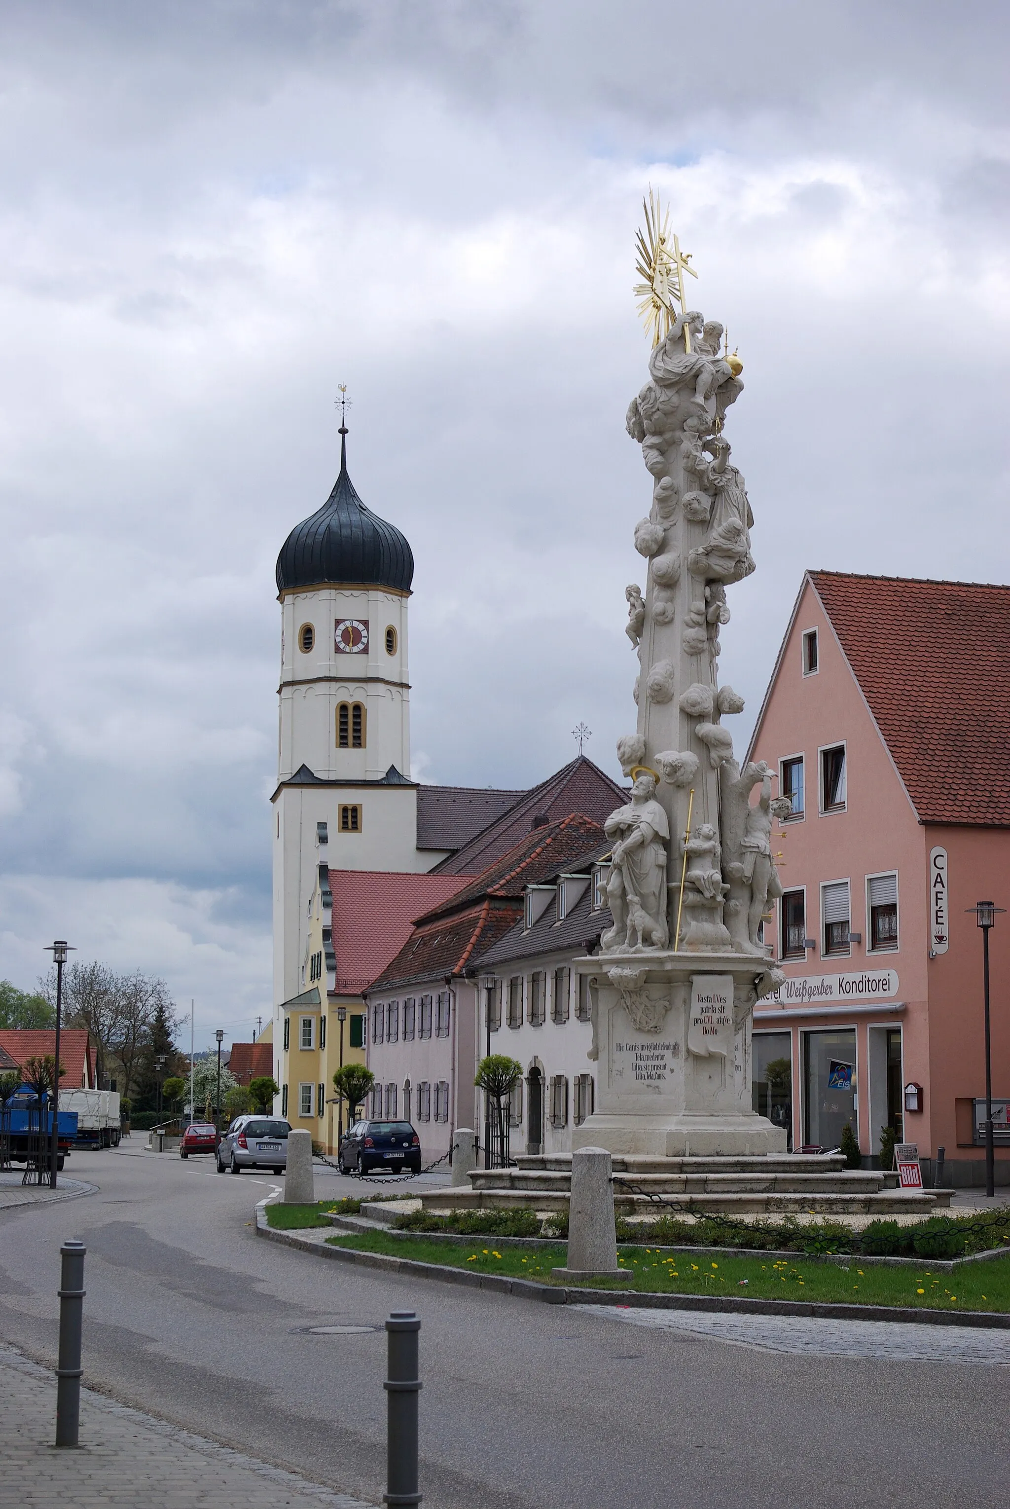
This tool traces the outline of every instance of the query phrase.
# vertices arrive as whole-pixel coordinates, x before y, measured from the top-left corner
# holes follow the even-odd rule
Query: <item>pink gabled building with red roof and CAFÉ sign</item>
[[[1010,1183],[1010,587],[808,572],[758,717],[793,813],[753,1016],[755,1109],[865,1157],[883,1127],[984,1180],[990,933],[996,1182]]]

